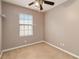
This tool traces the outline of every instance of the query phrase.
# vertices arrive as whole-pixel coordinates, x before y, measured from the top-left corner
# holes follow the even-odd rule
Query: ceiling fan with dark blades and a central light
[[[39,6],[40,10],[43,10],[43,4],[54,5],[55,3],[47,0],[35,0],[34,2],[29,3],[29,6],[33,4]]]

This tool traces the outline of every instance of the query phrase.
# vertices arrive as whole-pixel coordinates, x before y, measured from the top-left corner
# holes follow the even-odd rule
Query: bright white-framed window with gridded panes
[[[33,16],[28,14],[19,15],[20,36],[33,35]]]

